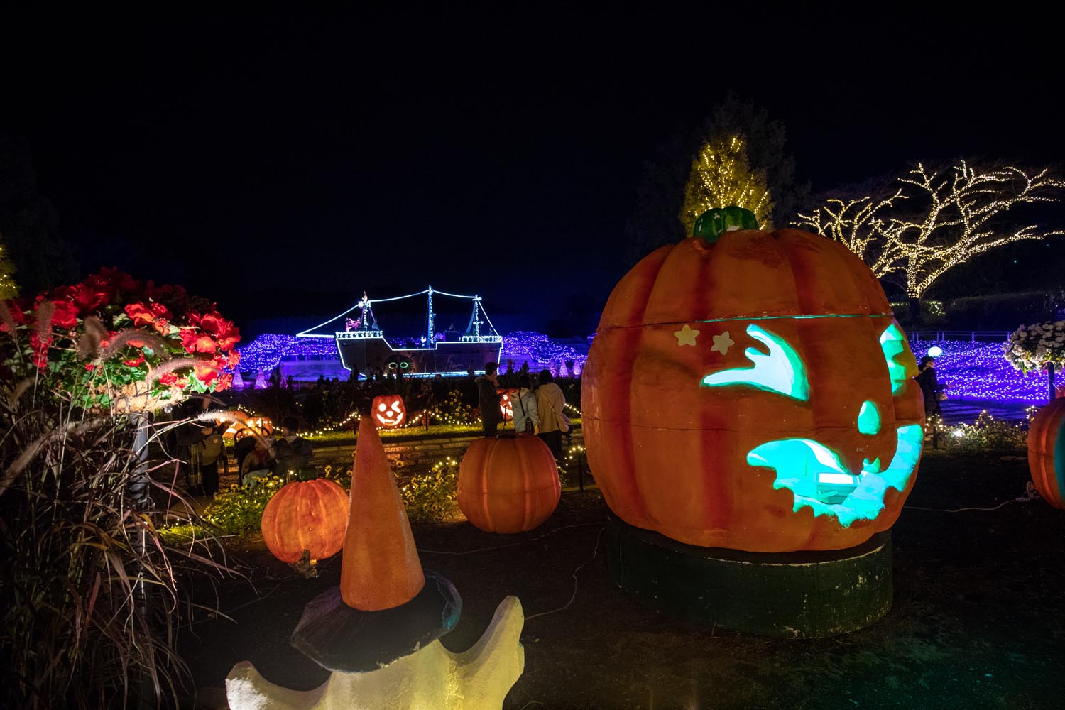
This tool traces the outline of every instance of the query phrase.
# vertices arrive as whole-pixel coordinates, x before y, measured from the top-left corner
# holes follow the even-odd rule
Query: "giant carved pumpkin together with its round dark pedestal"
[[[759,231],[738,208],[701,216],[618,283],[583,374],[615,582],[765,635],[886,614],[890,527],[923,441],[916,373],[883,288],[845,247]]]

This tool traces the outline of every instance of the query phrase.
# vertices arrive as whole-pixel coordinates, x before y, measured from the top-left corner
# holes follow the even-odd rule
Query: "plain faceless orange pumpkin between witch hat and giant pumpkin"
[[[562,489],[538,436],[478,439],[459,464],[459,510],[486,532],[524,532],[551,517]]]

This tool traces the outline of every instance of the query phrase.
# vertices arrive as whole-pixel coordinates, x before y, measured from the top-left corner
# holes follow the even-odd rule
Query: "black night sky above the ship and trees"
[[[9,7],[0,132],[83,271],[182,283],[248,335],[428,284],[504,332],[593,328],[646,161],[730,89],[784,122],[815,193],[1065,160],[1048,18],[748,6]]]

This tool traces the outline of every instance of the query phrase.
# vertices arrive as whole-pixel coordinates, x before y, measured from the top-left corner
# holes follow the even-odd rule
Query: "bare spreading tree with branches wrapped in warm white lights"
[[[958,264],[1005,244],[1065,233],[1003,224],[1018,205],[1060,201],[1065,181],[1048,169],[980,169],[963,161],[930,170],[918,164],[898,183],[884,198],[830,199],[800,213],[797,224],[843,243],[878,277],[898,280],[915,316],[929,286]]]

